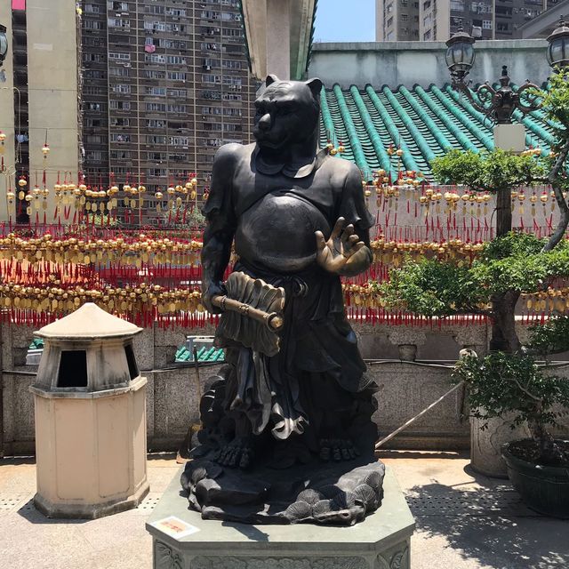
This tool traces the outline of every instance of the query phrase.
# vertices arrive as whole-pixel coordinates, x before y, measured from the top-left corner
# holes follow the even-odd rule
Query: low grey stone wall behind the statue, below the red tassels
[[[486,325],[441,325],[431,329],[389,325],[355,324],[368,371],[378,385],[378,411],[374,416],[380,436],[393,432],[405,421],[433,403],[450,389],[450,366],[461,348],[468,346],[485,354]],[[176,450],[188,427],[198,421],[196,374],[193,368],[173,364],[176,348],[188,334],[212,333],[198,330],[155,328],[144,330],[135,340],[142,374],[148,378],[147,435],[151,451]],[[0,375],[4,411],[4,454],[34,453],[34,403],[28,388],[36,381],[33,366],[25,357],[33,329],[21,325],[2,326],[2,369]],[[525,330],[520,329],[522,336]],[[422,360],[445,362],[404,363],[397,360],[397,346],[413,343]],[[200,368],[201,390],[212,382],[220,365]],[[455,392],[413,427],[393,439],[386,448],[469,448],[469,421],[464,420],[462,394]],[[567,421],[565,435],[569,435]],[[1,437],[0,437],[1,438]],[[2,449],[0,449],[2,450]],[[1,454],[1,453],[0,453]]]

